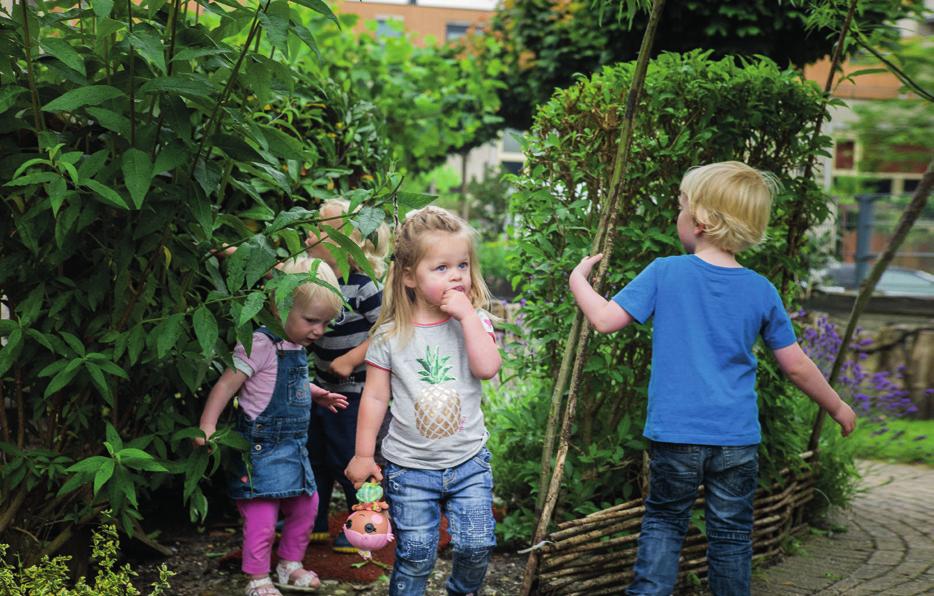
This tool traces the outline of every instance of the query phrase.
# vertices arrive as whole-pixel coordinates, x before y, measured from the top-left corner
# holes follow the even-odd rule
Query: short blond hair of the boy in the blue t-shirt
[[[778,182],[739,161],[697,166],[681,179],[688,211],[715,246],[738,253],[765,238]]]

